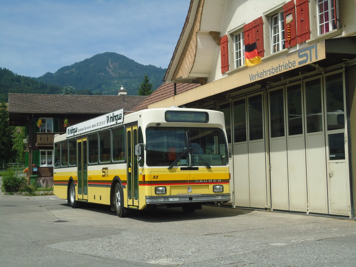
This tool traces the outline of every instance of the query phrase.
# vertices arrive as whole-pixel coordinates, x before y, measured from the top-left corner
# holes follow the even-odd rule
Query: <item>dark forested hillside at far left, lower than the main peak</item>
[[[33,78],[17,75],[11,70],[0,68],[0,101],[7,102],[9,93],[61,94],[62,87],[37,82]]]

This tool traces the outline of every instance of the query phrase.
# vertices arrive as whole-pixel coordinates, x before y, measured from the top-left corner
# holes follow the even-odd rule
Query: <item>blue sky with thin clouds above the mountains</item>
[[[167,68],[190,0],[0,0],[0,67],[40,77],[115,52]]]

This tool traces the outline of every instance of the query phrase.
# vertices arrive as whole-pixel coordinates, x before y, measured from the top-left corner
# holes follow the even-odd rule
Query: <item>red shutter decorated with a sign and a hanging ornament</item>
[[[283,5],[284,16],[284,43],[286,48],[297,45],[297,30],[295,23],[294,0]],[[288,23],[287,23],[288,22]]]

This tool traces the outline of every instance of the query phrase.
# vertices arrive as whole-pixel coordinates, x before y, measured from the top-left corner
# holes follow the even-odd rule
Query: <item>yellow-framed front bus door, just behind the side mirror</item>
[[[138,162],[135,156],[137,126],[126,128],[127,142],[127,206],[138,207]]]

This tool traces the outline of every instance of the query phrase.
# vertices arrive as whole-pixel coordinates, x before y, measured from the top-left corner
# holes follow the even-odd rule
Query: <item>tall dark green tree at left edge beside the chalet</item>
[[[3,163],[9,163],[14,160],[14,152],[12,151],[12,134],[14,127],[9,123],[9,112],[5,101],[0,104],[0,166]]]

